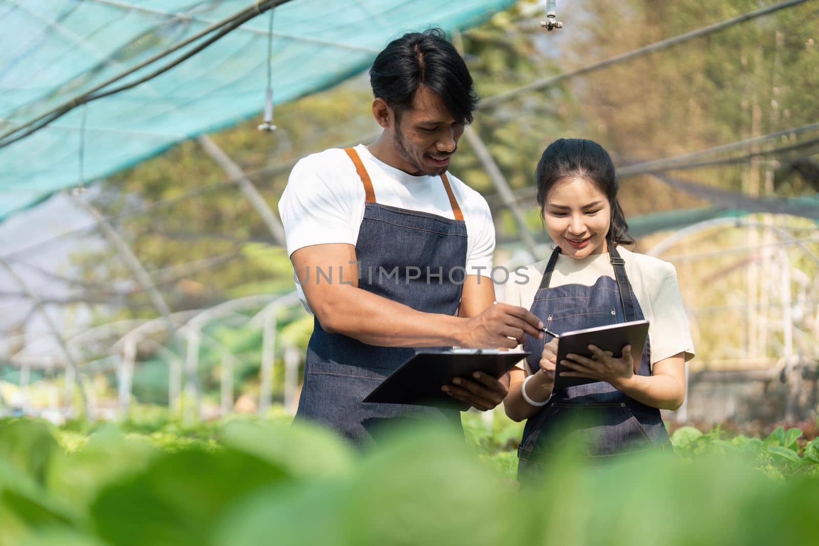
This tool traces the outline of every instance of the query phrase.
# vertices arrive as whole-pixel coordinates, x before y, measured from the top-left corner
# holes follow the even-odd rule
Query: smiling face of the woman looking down
[[[609,199],[588,178],[563,178],[546,196],[546,231],[563,254],[585,258],[609,250],[606,233],[611,223]]]

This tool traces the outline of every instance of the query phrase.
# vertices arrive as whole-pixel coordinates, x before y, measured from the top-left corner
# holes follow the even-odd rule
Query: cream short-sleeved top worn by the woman
[[[691,341],[688,316],[682,305],[674,266],[653,256],[631,252],[622,246],[618,246],[618,252],[626,262],[626,275],[631,289],[640,303],[645,319],[649,321],[650,364],[654,366],[654,363],[680,353],[685,353],[686,362],[693,359],[694,342]],[[531,309],[548,263],[549,260],[545,259],[525,268],[515,269],[509,282],[503,287],[501,299],[509,305]],[[588,255],[582,259],[561,254],[554,265],[549,287],[567,284],[591,287],[603,276],[614,278],[608,252]],[[519,363],[518,368],[527,370],[523,363]]]

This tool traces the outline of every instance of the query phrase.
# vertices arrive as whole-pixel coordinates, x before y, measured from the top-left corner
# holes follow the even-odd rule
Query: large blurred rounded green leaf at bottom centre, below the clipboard
[[[523,527],[509,525],[518,513],[510,492],[463,440],[429,428],[405,431],[356,472],[349,544],[522,544]]]

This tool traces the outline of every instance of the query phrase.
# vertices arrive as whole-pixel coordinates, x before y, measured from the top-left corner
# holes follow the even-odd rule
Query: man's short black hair
[[[373,96],[387,101],[396,117],[412,107],[419,85],[441,97],[455,121],[472,123],[477,93],[466,63],[438,28],[404,34],[378,53],[369,70]]]

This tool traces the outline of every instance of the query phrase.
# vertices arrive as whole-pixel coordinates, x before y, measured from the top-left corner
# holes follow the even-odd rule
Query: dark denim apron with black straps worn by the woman
[[[559,254],[559,248],[552,253],[530,309],[545,327],[561,334],[645,318],[628,282],[625,262],[614,245],[609,243],[615,278],[602,276],[591,287],[549,287]],[[540,369],[541,353],[550,338],[527,336],[523,350],[532,353],[527,357],[529,373]],[[642,376],[651,375],[649,355],[646,340],[637,372]],[[627,453],[670,449],[660,410],[632,399],[605,381],[554,390],[549,404],[527,419],[518,448],[518,478],[536,474],[537,467],[549,464],[550,455],[565,442],[574,443],[587,467],[608,466]]]

